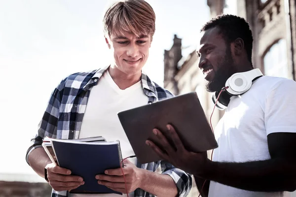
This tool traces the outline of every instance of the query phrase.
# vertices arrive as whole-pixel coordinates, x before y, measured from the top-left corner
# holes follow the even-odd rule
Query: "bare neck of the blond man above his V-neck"
[[[132,85],[136,84],[141,80],[142,76],[142,72],[133,75],[127,75],[126,73],[118,70],[114,66],[110,66],[108,68],[108,71],[115,84],[121,90],[125,90],[126,88],[129,88]]]

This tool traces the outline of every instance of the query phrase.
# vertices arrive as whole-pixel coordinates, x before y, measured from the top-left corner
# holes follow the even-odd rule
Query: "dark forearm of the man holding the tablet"
[[[202,178],[231,187],[259,192],[294,191],[295,162],[272,159],[247,163],[209,162]]]

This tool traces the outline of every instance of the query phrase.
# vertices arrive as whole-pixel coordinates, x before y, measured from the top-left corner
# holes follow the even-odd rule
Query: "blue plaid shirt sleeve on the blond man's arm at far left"
[[[45,136],[55,138],[57,134],[57,125],[59,119],[59,108],[62,101],[62,91],[64,79],[51,93],[50,99],[48,101],[46,110],[43,114],[41,121],[38,124],[38,131],[34,138],[31,139],[31,146],[27,150],[26,161],[29,164],[30,153],[39,147],[42,147],[42,140]]]

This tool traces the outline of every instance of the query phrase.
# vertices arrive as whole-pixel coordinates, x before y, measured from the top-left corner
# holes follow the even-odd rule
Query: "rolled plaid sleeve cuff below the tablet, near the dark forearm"
[[[171,176],[175,181],[178,189],[178,197],[186,197],[192,187],[191,175],[165,161],[161,161],[160,164],[162,174]]]

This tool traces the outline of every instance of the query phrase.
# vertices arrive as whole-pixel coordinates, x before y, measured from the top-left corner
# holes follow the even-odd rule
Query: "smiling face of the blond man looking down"
[[[113,53],[114,68],[123,75],[140,74],[147,62],[151,44],[150,35],[140,35],[124,32],[122,35],[111,35],[106,38]]]

